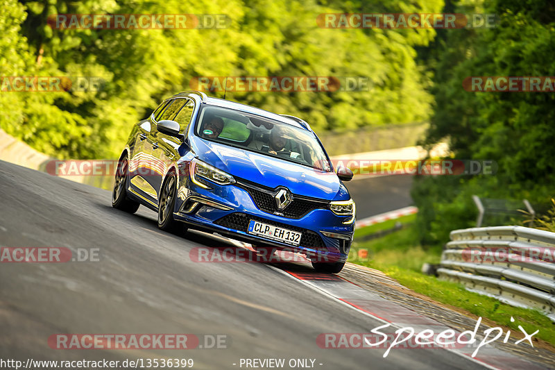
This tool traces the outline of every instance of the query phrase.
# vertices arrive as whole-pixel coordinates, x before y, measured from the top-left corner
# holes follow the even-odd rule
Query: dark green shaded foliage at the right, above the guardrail
[[[420,239],[445,242],[475,226],[472,194],[547,203],[555,183],[555,94],[468,92],[468,76],[553,76],[555,6],[549,1],[454,1],[455,12],[495,13],[495,28],[444,31],[436,44],[436,106],[427,143],[448,138],[454,158],[495,160],[495,176],[420,178]]]

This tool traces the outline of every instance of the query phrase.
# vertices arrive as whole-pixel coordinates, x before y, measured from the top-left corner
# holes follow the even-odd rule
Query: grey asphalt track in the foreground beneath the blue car
[[[0,161],[0,194],[0,246],[98,248],[101,258],[0,264],[1,359],[192,358],[194,369],[245,369],[241,358],[311,358],[316,369],[480,368],[443,349],[393,349],[383,358],[384,349],[319,348],[318,334],[369,333],[382,324],[266,264],[194,262],[191,249],[228,242],[164,233],[144,207],[135,215],[114,210],[106,190]],[[58,333],[219,334],[228,348],[52,349],[47,339]]]

